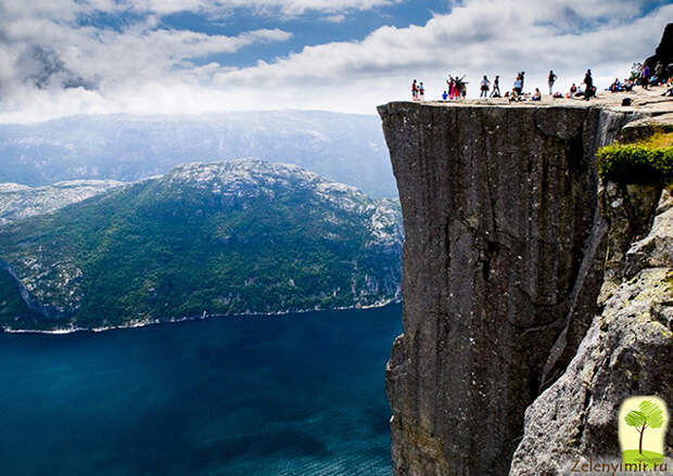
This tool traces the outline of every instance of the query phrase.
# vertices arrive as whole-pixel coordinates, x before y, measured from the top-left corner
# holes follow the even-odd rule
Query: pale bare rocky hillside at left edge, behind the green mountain
[[[124,184],[115,180],[74,180],[35,188],[0,183],[0,224],[48,214]]]

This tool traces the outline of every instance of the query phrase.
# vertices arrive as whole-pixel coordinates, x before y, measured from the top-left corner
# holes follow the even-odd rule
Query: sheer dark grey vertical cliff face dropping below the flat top
[[[404,334],[388,365],[396,475],[504,475],[525,408],[596,311],[607,222],[588,106],[379,108],[402,202]]]

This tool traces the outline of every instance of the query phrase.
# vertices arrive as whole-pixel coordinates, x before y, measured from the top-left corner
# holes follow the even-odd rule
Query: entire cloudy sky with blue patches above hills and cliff
[[[526,89],[625,76],[670,0],[0,0],[0,121],[429,99],[447,74]],[[544,90],[544,89],[543,89]]]

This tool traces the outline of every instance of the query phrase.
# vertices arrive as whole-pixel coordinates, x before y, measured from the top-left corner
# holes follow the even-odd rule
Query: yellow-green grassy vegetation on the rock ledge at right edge
[[[621,183],[670,183],[673,181],[673,132],[659,131],[630,143],[598,150],[598,173]]]

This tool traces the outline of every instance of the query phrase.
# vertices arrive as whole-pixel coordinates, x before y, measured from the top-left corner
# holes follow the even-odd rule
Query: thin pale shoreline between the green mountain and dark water
[[[29,329],[8,329],[4,326],[0,327],[0,334],[47,334],[47,335],[67,335],[75,333],[103,333],[107,331],[117,331],[125,329],[138,329],[138,327],[149,327],[151,325],[160,325],[160,324],[179,324],[182,322],[191,322],[191,321],[204,321],[206,319],[225,319],[225,318],[277,318],[280,316],[288,314],[305,314],[307,312],[328,312],[328,311],[348,311],[348,310],[367,310],[367,309],[380,309],[386,306],[392,306],[395,304],[402,304],[402,298],[394,297],[391,299],[384,299],[372,305],[367,306],[344,306],[340,308],[332,309],[303,309],[297,311],[280,311],[272,312],[269,314],[261,314],[256,312],[243,312],[238,314],[208,314],[204,312],[201,316],[189,316],[183,318],[173,318],[173,319],[153,319],[151,321],[144,322],[131,322],[128,324],[120,325],[109,325],[102,327],[71,327],[71,329],[56,329],[50,331],[40,331],[40,330],[29,330]]]

